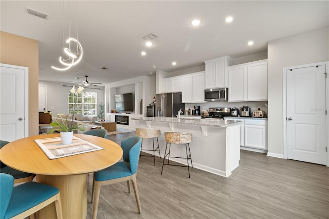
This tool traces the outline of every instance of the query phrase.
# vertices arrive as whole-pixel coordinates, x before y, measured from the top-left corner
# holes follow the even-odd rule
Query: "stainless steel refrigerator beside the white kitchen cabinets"
[[[176,117],[179,109],[185,112],[185,103],[181,103],[181,93],[156,95],[156,116]]]

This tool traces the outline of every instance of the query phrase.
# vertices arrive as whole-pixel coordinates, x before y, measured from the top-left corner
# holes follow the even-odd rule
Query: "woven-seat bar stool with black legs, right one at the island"
[[[165,157],[163,157],[161,175],[162,175],[162,171],[163,171],[163,165],[186,167],[183,165],[169,164],[169,158],[172,157],[172,156],[170,156],[171,144],[185,144],[186,157],[174,157],[174,158],[186,158],[187,159],[187,168],[189,170],[189,178],[190,178],[189,159],[191,160],[191,166],[193,167],[191,151],[190,151],[190,142],[192,142],[192,134],[187,133],[187,132],[165,132],[165,140],[166,140],[167,144],[166,144],[166,150],[165,150]],[[169,144],[169,150],[168,150],[168,154],[166,154],[168,144]],[[187,151],[188,149],[189,149],[189,153]],[[168,156],[168,163],[165,163],[165,159],[167,156]]]

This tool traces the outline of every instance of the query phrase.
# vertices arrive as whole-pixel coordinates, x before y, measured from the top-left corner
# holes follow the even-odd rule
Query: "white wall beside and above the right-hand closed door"
[[[268,43],[268,153],[283,155],[283,68],[329,60],[329,29]]]

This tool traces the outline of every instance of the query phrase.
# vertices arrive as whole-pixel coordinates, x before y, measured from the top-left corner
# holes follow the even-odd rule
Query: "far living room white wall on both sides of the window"
[[[67,85],[64,87],[63,85]],[[76,84],[39,81],[39,86],[47,87],[47,105],[46,111],[51,111],[53,115],[58,113],[68,113],[68,93],[72,86]],[[96,88],[96,87],[95,87]],[[104,87],[100,89],[84,88],[85,91],[97,92],[97,104],[104,103]]]

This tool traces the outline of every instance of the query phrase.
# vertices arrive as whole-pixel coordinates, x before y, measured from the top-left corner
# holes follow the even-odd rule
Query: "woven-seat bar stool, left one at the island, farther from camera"
[[[158,140],[158,136],[161,134],[160,130],[158,129],[153,129],[153,128],[136,128],[136,135],[140,136],[142,138],[142,145],[140,147],[140,154],[139,156],[145,156],[145,157],[152,157],[152,155],[142,155],[142,151],[153,151],[153,159],[154,159],[154,166],[155,166],[155,152],[158,151],[159,152],[159,156],[161,158],[160,155],[160,148],[159,148],[159,140]],[[143,146],[143,138],[152,138],[152,142],[153,142],[153,150],[148,150],[148,149],[142,149]],[[154,149],[154,138],[156,138],[157,142],[158,142],[158,147],[156,149]]]

